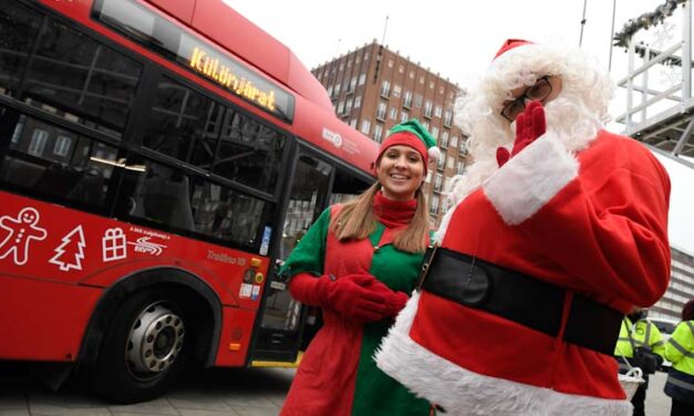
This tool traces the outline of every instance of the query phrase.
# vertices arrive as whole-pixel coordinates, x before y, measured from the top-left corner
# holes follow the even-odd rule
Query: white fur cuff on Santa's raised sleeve
[[[578,169],[578,160],[547,133],[495,171],[483,189],[504,221],[516,226],[576,178]]]

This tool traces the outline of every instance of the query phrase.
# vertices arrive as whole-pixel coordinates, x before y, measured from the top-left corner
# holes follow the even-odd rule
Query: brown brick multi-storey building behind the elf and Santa
[[[458,86],[375,41],[311,72],[325,86],[338,116],[379,143],[389,128],[410,118],[427,127],[442,150],[425,187],[438,226],[448,208],[442,195],[446,179],[462,174],[468,162],[467,138],[453,123]]]

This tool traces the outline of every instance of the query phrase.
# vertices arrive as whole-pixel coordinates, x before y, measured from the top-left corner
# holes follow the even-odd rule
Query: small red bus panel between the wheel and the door
[[[235,367],[246,364],[248,347],[252,339],[256,311],[224,308],[221,336],[217,351],[216,366]]]

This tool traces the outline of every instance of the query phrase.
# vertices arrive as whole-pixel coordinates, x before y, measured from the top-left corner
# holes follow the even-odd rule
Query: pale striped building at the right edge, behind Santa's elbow
[[[672,266],[667,292],[649,311],[650,318],[680,321],[682,306],[694,299],[694,257],[671,248]]]

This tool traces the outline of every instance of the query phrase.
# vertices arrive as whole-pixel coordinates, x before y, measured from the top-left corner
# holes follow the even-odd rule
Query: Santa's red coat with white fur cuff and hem
[[[638,142],[600,132],[572,155],[546,134],[458,204],[442,247],[628,312],[667,288],[669,196]],[[613,357],[428,292],[376,360],[452,414],[631,415]]]

